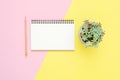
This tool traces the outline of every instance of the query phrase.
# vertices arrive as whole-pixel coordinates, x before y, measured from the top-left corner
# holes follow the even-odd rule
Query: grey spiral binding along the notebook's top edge
[[[31,20],[32,24],[74,24],[74,20]]]

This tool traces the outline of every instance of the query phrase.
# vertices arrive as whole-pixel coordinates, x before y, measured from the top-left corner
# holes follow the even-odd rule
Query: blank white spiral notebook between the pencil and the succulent
[[[74,50],[74,20],[31,20],[31,50]]]

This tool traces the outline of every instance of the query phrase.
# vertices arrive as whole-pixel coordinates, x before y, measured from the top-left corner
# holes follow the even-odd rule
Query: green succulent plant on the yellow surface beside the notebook
[[[85,47],[97,47],[103,36],[104,31],[100,23],[86,20],[80,28],[79,37]]]

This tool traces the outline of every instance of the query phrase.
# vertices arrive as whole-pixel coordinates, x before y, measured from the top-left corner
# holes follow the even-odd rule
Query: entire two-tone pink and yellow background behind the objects
[[[74,19],[75,51],[31,51],[31,19]],[[79,41],[86,19],[101,22],[105,30],[98,48]],[[0,0],[0,80],[120,80],[119,30],[119,0]]]

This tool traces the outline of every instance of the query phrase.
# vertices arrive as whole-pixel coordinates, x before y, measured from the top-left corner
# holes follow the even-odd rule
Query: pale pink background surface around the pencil
[[[24,56],[24,17],[28,38],[31,19],[63,19],[71,0],[0,0],[0,80],[34,80],[46,51]]]

